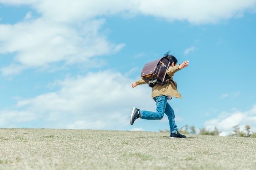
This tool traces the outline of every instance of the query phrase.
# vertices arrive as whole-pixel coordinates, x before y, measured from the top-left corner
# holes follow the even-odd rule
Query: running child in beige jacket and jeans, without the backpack
[[[178,61],[173,55],[169,55],[170,51],[164,55],[164,57],[168,57],[170,60],[170,66],[166,72],[165,80],[171,78],[169,82],[163,85],[156,85],[152,88],[152,98],[156,102],[156,112],[153,111],[146,111],[140,110],[135,107],[132,109],[132,114],[130,118],[130,123],[133,125],[134,121],[138,118],[141,119],[148,119],[148,120],[161,120],[164,117],[164,113],[167,115],[170,125],[170,137],[169,138],[186,138],[185,135],[181,135],[178,132],[178,128],[175,124],[174,120],[174,110],[167,103],[167,100],[171,100],[172,97],[175,98],[182,98],[180,93],[177,90],[177,83],[173,81],[172,76],[178,70],[185,68],[188,66],[188,61],[184,61],[184,63],[177,65]],[[137,80],[136,82],[132,83],[132,88],[140,85],[146,84],[143,79]]]

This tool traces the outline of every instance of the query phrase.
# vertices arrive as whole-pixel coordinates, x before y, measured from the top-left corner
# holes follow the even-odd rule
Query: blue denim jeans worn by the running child
[[[153,100],[156,102],[156,112],[141,110],[141,119],[161,120],[164,117],[165,113],[169,120],[171,133],[176,133],[178,131],[178,127],[176,126],[174,120],[174,110],[172,109],[170,104],[167,103],[167,96],[156,96],[153,98]]]

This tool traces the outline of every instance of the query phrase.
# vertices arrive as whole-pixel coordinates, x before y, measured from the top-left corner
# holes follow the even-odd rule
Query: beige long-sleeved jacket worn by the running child
[[[181,70],[179,68],[179,65],[173,66],[173,67],[169,67],[166,74],[166,79],[174,76],[174,73],[177,72],[178,70]],[[146,82],[143,79],[137,80],[135,82],[137,85],[140,84],[146,84]],[[175,98],[182,98],[182,96],[180,95],[180,93],[177,90],[177,83],[174,82],[171,78],[171,80],[169,82],[167,82],[164,85],[156,85],[152,88],[152,94],[151,94],[151,98],[154,98],[156,96],[172,96]]]

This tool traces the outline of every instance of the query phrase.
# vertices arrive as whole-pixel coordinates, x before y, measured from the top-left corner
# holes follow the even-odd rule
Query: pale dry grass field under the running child
[[[256,139],[169,133],[0,129],[1,170],[256,170]]]

